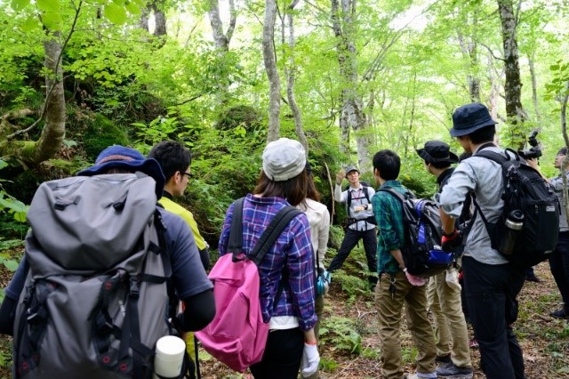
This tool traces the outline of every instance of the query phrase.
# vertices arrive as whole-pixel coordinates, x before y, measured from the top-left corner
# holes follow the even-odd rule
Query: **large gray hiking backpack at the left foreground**
[[[139,173],[47,181],[28,222],[14,375],[150,378],[177,303],[155,181]]]

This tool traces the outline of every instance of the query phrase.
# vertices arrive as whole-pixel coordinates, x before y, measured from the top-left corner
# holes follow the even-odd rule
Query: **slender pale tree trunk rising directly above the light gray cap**
[[[276,69],[275,56],[276,0],[265,0],[263,23],[263,61],[269,84],[267,141],[276,141],[280,135],[281,82]]]

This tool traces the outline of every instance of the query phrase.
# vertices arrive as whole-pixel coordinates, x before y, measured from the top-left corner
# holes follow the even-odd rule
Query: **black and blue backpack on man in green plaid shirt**
[[[426,198],[407,197],[396,189],[380,189],[395,196],[403,206],[405,243],[401,254],[407,272],[421,277],[437,275],[453,263],[453,253],[441,249],[441,216],[437,203]]]

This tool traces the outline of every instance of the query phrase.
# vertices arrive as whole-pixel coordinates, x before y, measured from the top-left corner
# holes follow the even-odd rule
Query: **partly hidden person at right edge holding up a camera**
[[[561,165],[566,156],[567,148],[563,147],[557,151],[554,166],[555,168],[558,168],[559,171],[561,171]],[[537,161],[535,159],[528,159],[527,163],[528,165],[533,166],[536,170],[540,169],[540,166],[537,165]],[[569,171],[566,171],[565,175],[569,178]],[[569,226],[567,226],[565,206],[563,205],[563,177],[561,176],[561,173],[556,177],[549,179],[549,183],[555,190],[559,204],[561,205],[557,246],[553,251],[553,254],[549,257],[549,269],[555,279],[557,288],[559,288],[559,294],[561,294],[561,300],[563,301],[563,307],[558,310],[551,311],[549,316],[556,319],[569,319]]]

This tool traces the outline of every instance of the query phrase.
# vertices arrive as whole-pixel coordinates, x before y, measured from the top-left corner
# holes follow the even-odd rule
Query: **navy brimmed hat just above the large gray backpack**
[[[95,165],[77,173],[78,176],[93,176],[105,173],[111,168],[123,168],[132,172],[140,171],[156,181],[156,198],[162,198],[164,173],[154,158],[144,157],[140,151],[120,145],[109,146],[100,152]]]

